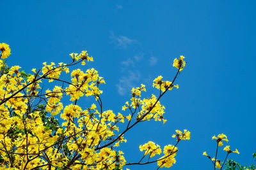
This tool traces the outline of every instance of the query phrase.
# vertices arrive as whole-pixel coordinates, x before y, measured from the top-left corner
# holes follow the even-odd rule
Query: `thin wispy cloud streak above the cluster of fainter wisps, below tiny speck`
[[[128,38],[127,36],[116,36],[114,32],[111,32],[110,38],[116,46],[127,48],[127,46],[137,43],[136,39]]]

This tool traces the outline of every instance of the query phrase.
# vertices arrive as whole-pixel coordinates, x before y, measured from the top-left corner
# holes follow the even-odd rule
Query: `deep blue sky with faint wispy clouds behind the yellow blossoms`
[[[227,134],[230,155],[253,163],[255,146],[255,1],[3,1],[0,42],[8,43],[9,66],[29,72],[42,62],[69,62],[68,53],[88,50],[106,80],[104,109],[121,111],[131,87],[144,83],[145,97],[158,94],[152,80],[170,80],[172,61],[184,55],[179,90],[163,97],[166,124],[143,122],[121,145],[127,162],[140,160],[147,141],[174,144],[175,129],[191,131],[178,146],[171,169],[212,169],[202,156],[215,152],[214,134]],[[81,106],[88,106],[86,100]],[[225,153],[222,148],[221,152]],[[221,155],[224,159],[224,155]],[[156,169],[127,166],[129,169]]]

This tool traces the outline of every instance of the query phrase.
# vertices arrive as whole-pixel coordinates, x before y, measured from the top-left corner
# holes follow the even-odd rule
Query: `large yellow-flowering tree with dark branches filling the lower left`
[[[118,150],[120,143],[126,142],[124,134],[140,122],[166,121],[160,99],[173,87],[179,88],[174,82],[186,64],[183,56],[173,62],[177,73],[172,81],[164,81],[162,76],[154,80],[158,96],[142,99],[141,92],[146,89],[141,84],[132,88],[131,101],[122,106],[124,113],[115,114],[102,108],[100,86],[105,81],[95,69],[74,69],[70,81],[61,78],[70,67],[93,61],[86,51],[71,53],[69,64],[44,62],[42,69],[26,74],[19,66],[8,67],[3,60],[10,55],[9,45],[0,43],[0,50],[0,162],[4,169],[122,169],[125,165],[152,163],[171,167],[178,143],[190,139],[186,129],[176,130],[173,138],[177,142],[164,146],[158,159],[155,156],[161,155],[162,149],[152,141],[140,146],[143,156],[138,162],[127,163],[124,153]],[[55,86],[51,90],[41,90],[42,85],[50,87],[52,83]],[[82,96],[95,97],[97,105],[81,108],[78,103]],[[64,98],[71,103],[63,104]],[[125,128],[118,132],[120,122]]]

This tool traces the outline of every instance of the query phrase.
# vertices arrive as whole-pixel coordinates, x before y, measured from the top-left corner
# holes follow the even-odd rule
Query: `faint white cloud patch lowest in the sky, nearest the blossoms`
[[[140,72],[139,71],[127,71],[127,76],[122,76],[116,85],[118,94],[124,96],[129,92],[132,87],[134,87],[134,83],[137,83],[140,80]]]

